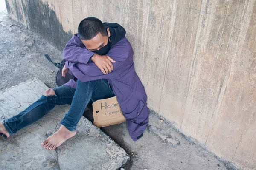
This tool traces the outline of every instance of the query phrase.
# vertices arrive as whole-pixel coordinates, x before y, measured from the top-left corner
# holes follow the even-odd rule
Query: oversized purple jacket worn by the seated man
[[[134,70],[133,49],[126,37],[122,38],[108,52],[114,59],[113,71],[103,74],[93,63],[88,62],[93,52],[87,50],[77,34],[75,34],[63,50],[66,68],[82,82],[96,79],[107,79],[113,88],[117,101],[126,118],[126,124],[131,138],[136,141],[148,124],[147,95],[140,78]],[[76,88],[76,82],[70,80],[64,84]]]

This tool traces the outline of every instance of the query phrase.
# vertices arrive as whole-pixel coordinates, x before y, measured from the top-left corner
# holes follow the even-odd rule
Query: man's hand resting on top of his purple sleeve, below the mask
[[[103,74],[108,74],[113,70],[113,63],[115,61],[107,56],[107,55],[99,55],[99,54],[94,54],[92,57],[92,61],[99,67],[99,69],[102,71]]]

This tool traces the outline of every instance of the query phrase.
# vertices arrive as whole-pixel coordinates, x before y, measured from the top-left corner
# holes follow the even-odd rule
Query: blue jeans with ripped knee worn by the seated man
[[[61,120],[61,124],[68,130],[76,130],[90,99],[95,102],[115,96],[112,88],[105,79],[89,82],[77,80],[76,89],[68,86],[53,88],[55,96],[41,96],[36,102],[29,105],[24,111],[12,118],[3,121],[3,125],[10,135],[26,127],[46,115],[55,105],[69,104],[70,110]]]

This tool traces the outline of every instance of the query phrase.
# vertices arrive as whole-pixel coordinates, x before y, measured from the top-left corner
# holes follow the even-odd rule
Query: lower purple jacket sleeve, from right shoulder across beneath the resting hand
[[[133,64],[133,55],[129,54],[128,47],[124,42],[114,45],[106,55],[116,61],[116,63],[113,63],[113,71],[108,74],[103,74],[93,62],[88,64],[66,62],[66,68],[69,68],[77,79],[82,82],[87,82],[96,79],[115,79],[127,68],[125,66]]]

